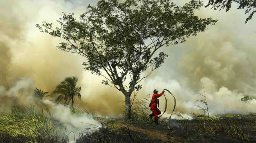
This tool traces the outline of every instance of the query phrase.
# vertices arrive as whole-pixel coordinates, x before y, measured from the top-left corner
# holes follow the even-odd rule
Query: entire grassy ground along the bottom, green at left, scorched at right
[[[133,110],[133,119],[96,117],[101,128],[85,129],[76,143],[248,143],[256,142],[256,114],[222,114],[214,117],[193,116],[193,120],[160,119],[150,124],[148,109],[140,105]],[[73,114],[82,110],[70,108]],[[182,118],[182,114],[176,113]],[[177,126],[176,126],[177,125]],[[12,107],[0,112],[0,143],[67,143],[65,126],[51,118],[44,109]]]

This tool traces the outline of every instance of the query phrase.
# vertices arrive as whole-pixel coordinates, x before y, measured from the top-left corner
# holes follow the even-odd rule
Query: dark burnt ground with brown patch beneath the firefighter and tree
[[[172,129],[163,120],[161,125],[110,120],[77,143],[256,143],[255,117],[182,120],[177,121],[180,127]]]

